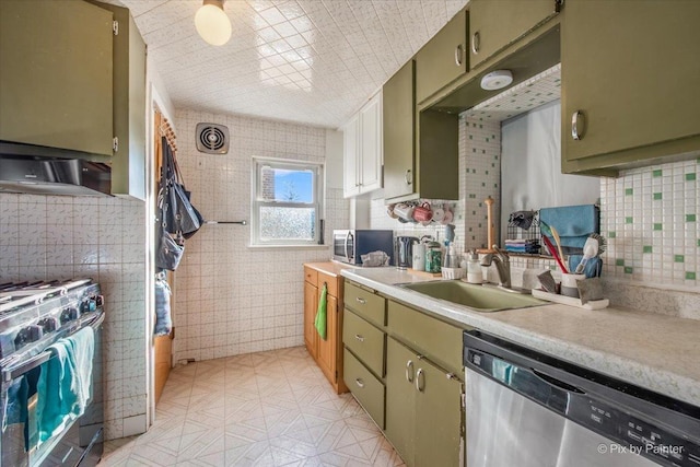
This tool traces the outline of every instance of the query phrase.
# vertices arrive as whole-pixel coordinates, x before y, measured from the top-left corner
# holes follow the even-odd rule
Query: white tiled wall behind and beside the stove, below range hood
[[[145,430],[144,205],[0,195],[0,282],[90,277],[105,295],[107,439]]]

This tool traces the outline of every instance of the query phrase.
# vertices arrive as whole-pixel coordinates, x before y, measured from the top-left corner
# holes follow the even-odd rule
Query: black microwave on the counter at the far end
[[[362,255],[384,252],[394,265],[394,231],[346,230],[332,231],[332,259],[351,265],[362,265]]]

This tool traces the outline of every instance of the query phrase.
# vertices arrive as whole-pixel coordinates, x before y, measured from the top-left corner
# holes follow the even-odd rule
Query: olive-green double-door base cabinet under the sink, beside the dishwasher
[[[388,339],[385,434],[406,465],[460,465],[463,392],[456,376]]]

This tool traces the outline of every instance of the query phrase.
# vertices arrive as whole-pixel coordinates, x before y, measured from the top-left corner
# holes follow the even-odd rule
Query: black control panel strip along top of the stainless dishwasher
[[[663,466],[700,467],[700,410],[695,406],[512,342],[485,340],[481,332],[465,332],[464,364],[603,435],[620,452]]]

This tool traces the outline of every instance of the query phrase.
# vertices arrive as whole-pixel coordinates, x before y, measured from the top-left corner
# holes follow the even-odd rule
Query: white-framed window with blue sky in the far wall
[[[316,245],[322,164],[253,157],[250,245]]]

